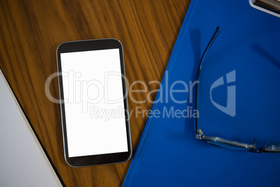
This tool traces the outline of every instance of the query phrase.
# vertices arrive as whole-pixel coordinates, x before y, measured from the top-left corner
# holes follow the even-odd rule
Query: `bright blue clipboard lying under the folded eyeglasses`
[[[280,185],[280,154],[224,149],[195,138],[189,82],[196,80],[217,26],[221,32],[201,70],[203,133],[250,144],[256,139],[257,147],[280,140],[280,18],[249,1],[192,0],[152,107],[160,116],[148,118],[123,186]],[[226,81],[228,73],[234,73],[233,82]],[[213,89],[221,77],[224,84]],[[171,87],[186,91],[171,94]],[[232,98],[228,87],[235,88],[232,115],[221,110]]]

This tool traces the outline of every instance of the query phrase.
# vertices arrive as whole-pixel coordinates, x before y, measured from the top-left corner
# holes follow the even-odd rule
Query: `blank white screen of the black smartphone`
[[[118,49],[61,53],[68,156],[128,151]]]

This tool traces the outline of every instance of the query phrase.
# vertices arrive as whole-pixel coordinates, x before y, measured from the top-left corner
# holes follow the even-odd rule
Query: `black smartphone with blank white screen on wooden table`
[[[82,167],[129,160],[132,142],[120,41],[61,43],[57,63],[68,165]]]

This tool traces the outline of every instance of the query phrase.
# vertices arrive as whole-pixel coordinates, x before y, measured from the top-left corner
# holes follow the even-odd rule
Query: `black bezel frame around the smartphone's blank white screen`
[[[120,69],[121,74],[125,77],[125,64],[123,59],[123,45],[119,40],[114,38],[109,39],[98,39],[98,40],[78,40],[61,43],[56,50],[56,58],[58,65],[58,78],[59,78],[59,96],[60,96],[60,105],[61,105],[61,121],[63,128],[63,147],[64,147],[64,156],[66,163],[72,167],[84,167],[91,165],[104,165],[110,163],[124,163],[130,159],[132,156],[132,141],[130,135],[130,120],[128,114],[128,103],[127,103],[127,89],[125,78],[122,79],[123,84],[123,96],[124,96],[124,106],[125,106],[125,125],[127,131],[127,152],[114,153],[114,154],[100,154],[100,155],[91,155],[91,156],[77,156],[69,157],[68,156],[68,142],[67,142],[67,131],[66,131],[66,121],[65,121],[65,106],[63,103],[64,94],[63,94],[63,80],[61,75],[61,53],[65,52],[84,52],[91,50],[109,50],[109,49],[119,49],[120,52]]]

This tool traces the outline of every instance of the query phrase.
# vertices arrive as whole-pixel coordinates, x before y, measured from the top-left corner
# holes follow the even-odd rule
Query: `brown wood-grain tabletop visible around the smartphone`
[[[188,6],[189,0],[0,1],[0,68],[66,186],[121,186],[130,161],[81,168],[65,163],[60,106],[45,93],[47,77],[57,71],[56,47],[95,38],[123,43],[127,80],[148,86],[128,100],[134,112],[130,124],[135,151],[147,119],[135,111],[152,106],[149,100],[156,92],[148,92],[159,85],[148,83],[162,79]],[[49,89],[59,98],[57,79]],[[133,89],[143,85],[134,84]]]

